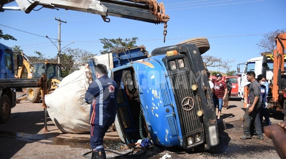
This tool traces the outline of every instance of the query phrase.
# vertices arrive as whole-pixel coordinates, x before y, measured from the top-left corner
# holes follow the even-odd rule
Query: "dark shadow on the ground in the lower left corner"
[[[51,120],[48,118],[48,121]],[[43,129],[43,122],[44,111],[12,113],[9,122],[0,124],[1,158],[13,157],[27,143],[49,140],[59,135],[59,133],[37,134]],[[47,126],[51,125],[53,124]]]

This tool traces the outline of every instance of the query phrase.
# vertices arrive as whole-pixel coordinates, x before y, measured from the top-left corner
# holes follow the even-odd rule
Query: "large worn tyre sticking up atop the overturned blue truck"
[[[176,45],[178,44],[195,44],[196,47],[198,47],[198,50],[200,51],[201,55],[210,49],[210,43],[208,42],[208,39],[206,39],[205,37],[188,39],[180,43],[177,43]]]

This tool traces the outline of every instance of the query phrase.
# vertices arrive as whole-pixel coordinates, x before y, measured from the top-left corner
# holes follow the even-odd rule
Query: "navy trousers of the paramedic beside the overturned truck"
[[[104,151],[103,137],[110,126],[111,125],[100,126],[90,124],[90,147],[92,149],[96,149],[97,151]]]

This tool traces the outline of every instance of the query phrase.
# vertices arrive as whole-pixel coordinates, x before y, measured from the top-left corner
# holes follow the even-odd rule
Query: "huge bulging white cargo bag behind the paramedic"
[[[49,116],[61,132],[90,132],[90,104],[85,102],[84,95],[91,82],[91,72],[86,65],[63,78],[52,94],[45,95]]]

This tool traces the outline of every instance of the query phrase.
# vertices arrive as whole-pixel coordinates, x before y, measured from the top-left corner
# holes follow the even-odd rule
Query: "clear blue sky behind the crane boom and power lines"
[[[61,47],[85,49],[100,54],[100,38],[138,37],[137,45],[144,45],[151,51],[157,47],[174,45],[192,37],[207,37],[212,55],[224,60],[235,60],[230,63],[231,70],[236,70],[238,63],[260,55],[257,43],[263,33],[283,29],[286,26],[285,0],[158,0],[163,2],[166,13],[170,15],[166,43],[163,42],[163,24],[155,25],[130,19],[108,16],[106,23],[99,15],[78,11],[43,8],[26,14],[23,11],[0,12],[0,24],[38,35],[58,37],[58,22],[55,17],[67,23],[61,25]],[[179,4],[174,4],[179,3]],[[16,2],[5,6],[17,6]],[[37,7],[36,9],[38,9]],[[20,32],[0,26],[4,34],[13,35],[17,41],[0,40],[7,46],[19,45],[27,55],[40,51],[45,56],[55,56],[57,48],[49,39]],[[253,35],[255,34],[255,35]],[[249,36],[231,36],[249,35]],[[56,41],[56,40],[53,40]],[[40,44],[43,43],[43,44]],[[34,45],[36,44],[36,45]],[[57,45],[57,43],[56,43]],[[209,68],[210,70],[223,69]]]

